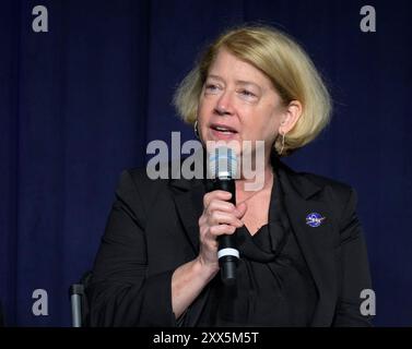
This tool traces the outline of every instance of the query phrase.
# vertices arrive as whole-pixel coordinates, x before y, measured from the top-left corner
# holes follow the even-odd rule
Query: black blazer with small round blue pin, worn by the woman
[[[346,184],[297,173],[280,160],[284,206],[318,291],[311,326],[368,326],[360,298],[370,288],[356,194]],[[202,180],[151,180],[145,169],[122,172],[86,292],[92,326],[196,326],[205,287],[177,323],[172,274],[199,251]],[[306,224],[310,213],[326,219]]]

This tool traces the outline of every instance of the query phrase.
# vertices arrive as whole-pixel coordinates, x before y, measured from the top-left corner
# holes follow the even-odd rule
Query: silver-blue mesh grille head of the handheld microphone
[[[209,154],[209,174],[212,179],[233,179],[237,177],[237,156],[227,146],[215,147]]]

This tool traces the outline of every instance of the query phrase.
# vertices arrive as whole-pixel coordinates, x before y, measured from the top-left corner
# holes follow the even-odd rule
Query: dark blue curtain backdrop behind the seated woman
[[[376,325],[412,325],[410,1],[2,0],[0,299],[7,323],[68,326],[68,286],[92,265],[123,168],[145,145],[192,139],[170,106],[198,50],[263,21],[295,36],[326,76],[331,127],[287,160],[358,192]],[[48,9],[49,32],[32,31]],[[377,32],[360,10],[375,5]],[[33,290],[49,315],[32,313]]]

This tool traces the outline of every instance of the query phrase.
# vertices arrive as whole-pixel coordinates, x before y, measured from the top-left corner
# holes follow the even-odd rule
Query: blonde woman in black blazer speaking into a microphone
[[[240,173],[233,205],[208,180],[125,171],[87,289],[91,324],[369,325],[360,312],[370,280],[355,192],[280,161],[329,121],[328,92],[303,49],[271,27],[232,29],[175,104],[204,147],[251,141],[254,157],[263,141],[263,184],[247,191],[255,179]],[[233,288],[217,277],[221,234],[235,234],[240,252]]]

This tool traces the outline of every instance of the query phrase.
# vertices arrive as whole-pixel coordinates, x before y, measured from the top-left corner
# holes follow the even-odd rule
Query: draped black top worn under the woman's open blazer
[[[228,288],[216,275],[200,326],[310,324],[318,296],[282,203],[282,190],[274,182],[269,224],[254,236],[245,226],[237,230],[237,285]]]

